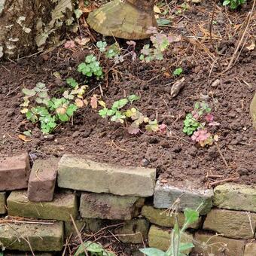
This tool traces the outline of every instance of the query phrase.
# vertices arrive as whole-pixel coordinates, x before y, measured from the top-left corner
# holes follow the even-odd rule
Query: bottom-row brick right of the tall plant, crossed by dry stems
[[[196,233],[194,239],[193,251],[203,255],[242,256],[245,247],[244,240],[215,236],[212,233]]]

